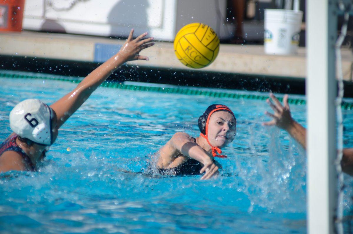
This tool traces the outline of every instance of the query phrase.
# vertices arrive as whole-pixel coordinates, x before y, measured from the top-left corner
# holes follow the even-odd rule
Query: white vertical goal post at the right
[[[341,233],[337,211],[336,56],[338,3],[306,1],[307,232]],[[352,8],[351,8],[352,11]],[[350,12],[352,14],[352,12]],[[342,223],[341,223],[342,224]]]

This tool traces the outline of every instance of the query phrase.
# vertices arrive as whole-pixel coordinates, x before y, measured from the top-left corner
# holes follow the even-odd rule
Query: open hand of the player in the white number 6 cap
[[[122,45],[119,53],[124,56],[126,61],[132,60],[148,60],[147,56],[139,55],[139,53],[150,46],[154,45],[154,42],[149,43],[153,40],[153,37],[149,37],[147,39],[143,39],[147,35],[147,33],[141,34],[136,39],[132,39],[133,29],[130,31],[130,35],[125,41],[124,45]],[[143,39],[143,40],[142,40]]]

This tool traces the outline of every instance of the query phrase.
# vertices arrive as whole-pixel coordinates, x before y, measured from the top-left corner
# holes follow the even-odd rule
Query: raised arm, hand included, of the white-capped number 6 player
[[[70,93],[50,105],[58,118],[57,128],[65,123],[86,99],[89,98],[92,92],[122,64],[131,60],[148,60],[148,57],[139,55],[139,52],[154,45],[154,43],[149,43],[153,40],[153,37],[143,39],[147,35],[147,33],[144,33],[133,40],[132,35],[133,29],[117,54],[88,74]]]

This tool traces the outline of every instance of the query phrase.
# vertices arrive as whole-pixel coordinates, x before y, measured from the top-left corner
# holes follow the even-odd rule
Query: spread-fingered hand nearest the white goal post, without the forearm
[[[289,104],[288,104],[288,95],[283,96],[283,104],[276,98],[274,94],[270,94],[270,98],[273,100],[273,102],[268,98],[266,102],[270,105],[272,110],[274,110],[274,113],[269,113],[268,111],[265,112],[266,115],[272,117],[273,119],[269,122],[264,122],[262,125],[265,126],[273,126],[276,125],[279,128],[287,130],[288,127],[291,125],[293,122],[293,118],[291,116],[291,110],[289,109]]]

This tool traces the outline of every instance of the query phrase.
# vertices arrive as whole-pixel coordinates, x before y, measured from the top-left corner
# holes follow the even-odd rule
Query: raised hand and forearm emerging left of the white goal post
[[[288,104],[288,95],[286,94],[283,96],[284,106],[274,94],[271,93],[270,98],[274,103],[269,98],[266,102],[270,105],[272,110],[274,110],[274,113],[272,114],[266,111],[265,114],[273,119],[269,122],[263,123],[263,125],[276,125],[277,127],[286,130],[301,146],[304,147],[304,149],[306,149],[306,129],[292,118]]]

